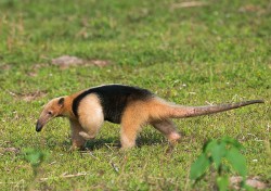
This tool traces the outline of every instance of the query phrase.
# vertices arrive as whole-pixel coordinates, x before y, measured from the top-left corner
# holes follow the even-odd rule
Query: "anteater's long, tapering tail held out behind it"
[[[244,101],[240,103],[206,105],[206,106],[172,105],[170,106],[168,114],[169,114],[169,117],[171,118],[194,117],[194,116],[208,115],[208,114],[224,112],[228,110],[238,109],[238,107],[255,104],[255,103],[264,103],[264,101],[263,100],[250,100],[250,101]]]

